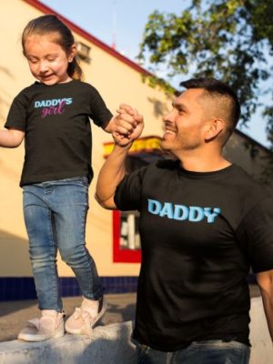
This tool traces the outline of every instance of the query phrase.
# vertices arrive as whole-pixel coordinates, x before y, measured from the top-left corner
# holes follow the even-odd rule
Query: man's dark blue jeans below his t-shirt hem
[[[164,352],[137,344],[137,364],[248,364],[250,348],[237,341],[196,341],[186,349]]]

